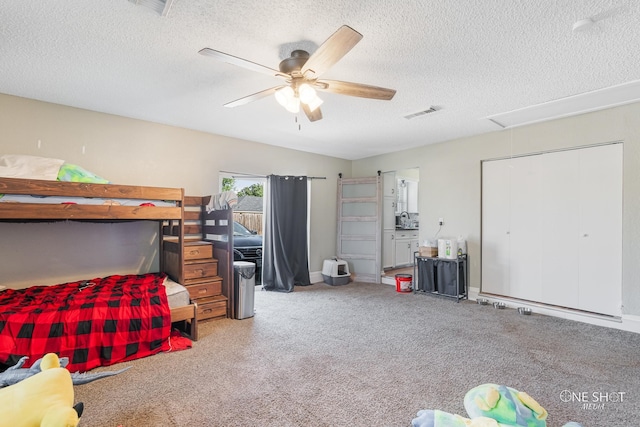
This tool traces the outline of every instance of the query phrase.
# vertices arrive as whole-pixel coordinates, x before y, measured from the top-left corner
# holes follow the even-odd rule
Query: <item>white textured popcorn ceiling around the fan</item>
[[[595,24],[572,32],[579,19]],[[341,25],[364,38],[322,77],[397,90],[331,93],[310,123],[273,97],[271,68]],[[500,129],[487,116],[640,79],[637,0],[2,0],[0,92],[265,144],[360,159]],[[411,120],[404,116],[436,106]],[[0,140],[1,142],[1,140]]]

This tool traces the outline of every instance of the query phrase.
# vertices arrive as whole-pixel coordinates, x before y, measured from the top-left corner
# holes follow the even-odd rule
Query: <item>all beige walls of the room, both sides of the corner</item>
[[[420,239],[432,238],[438,218],[444,218],[440,236],[468,241],[475,287],[481,160],[624,141],[623,313],[640,315],[640,104],[354,162],[1,94],[0,112],[0,153],[62,158],[119,184],[184,187],[189,195],[204,195],[217,191],[221,170],[326,176],[311,184],[311,271],[335,253],[338,173],[373,176],[419,167]],[[69,233],[71,227],[82,229],[88,240]],[[0,284],[153,270],[155,227],[0,223]]]

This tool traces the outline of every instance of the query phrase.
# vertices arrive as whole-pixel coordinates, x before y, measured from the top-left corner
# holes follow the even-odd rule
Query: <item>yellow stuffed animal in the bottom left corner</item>
[[[82,404],[73,406],[71,374],[58,356],[42,358],[42,372],[0,389],[0,427],[76,427]]]

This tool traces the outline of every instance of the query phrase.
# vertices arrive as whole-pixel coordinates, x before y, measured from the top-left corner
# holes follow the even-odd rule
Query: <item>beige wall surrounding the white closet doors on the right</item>
[[[425,118],[424,120],[428,120]],[[545,150],[624,142],[622,312],[640,315],[640,104],[462,138],[353,162],[353,176],[420,168],[420,240],[468,241],[471,286],[480,285],[480,162]],[[606,268],[606,266],[603,266]]]

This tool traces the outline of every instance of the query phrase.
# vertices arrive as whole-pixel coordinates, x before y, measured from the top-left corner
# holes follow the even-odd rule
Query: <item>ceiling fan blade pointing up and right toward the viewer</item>
[[[358,42],[362,34],[343,25],[320,45],[302,68],[302,75],[308,79],[318,78],[347,54]]]

